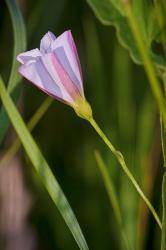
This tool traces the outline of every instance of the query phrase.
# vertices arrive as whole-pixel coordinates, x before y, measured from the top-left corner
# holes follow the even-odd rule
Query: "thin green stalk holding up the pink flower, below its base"
[[[139,193],[139,195],[141,196],[141,198],[146,203],[147,207],[149,208],[149,210],[153,214],[153,216],[154,216],[157,224],[159,225],[159,227],[161,229],[162,225],[161,225],[161,221],[160,221],[160,218],[159,218],[158,214],[156,213],[154,207],[152,206],[152,204],[150,203],[150,201],[148,200],[148,198],[143,193],[143,191],[140,188],[139,184],[135,180],[133,174],[128,169],[128,167],[126,165],[126,162],[124,160],[124,157],[121,154],[121,152],[115,149],[115,147],[112,145],[112,143],[109,141],[109,139],[107,138],[107,136],[103,133],[103,131],[100,129],[100,127],[98,126],[98,124],[96,123],[96,121],[93,118],[89,119],[88,121],[90,122],[90,124],[92,125],[92,127],[96,130],[96,132],[101,137],[101,139],[104,141],[104,143],[111,150],[111,152],[113,153],[113,155],[116,157],[116,159],[119,162],[121,168],[123,169],[123,171],[125,172],[125,174],[129,178],[129,180],[131,181],[131,183],[133,184],[133,186],[135,187],[135,189],[137,190],[137,192]]]

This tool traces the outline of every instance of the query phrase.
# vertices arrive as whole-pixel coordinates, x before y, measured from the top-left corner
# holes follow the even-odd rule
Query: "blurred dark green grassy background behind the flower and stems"
[[[128,52],[119,45],[115,29],[100,24],[84,0],[21,0],[20,8],[29,50],[39,47],[48,30],[58,36],[71,29],[82,65],[85,94],[94,116],[123,152],[132,173],[160,213],[159,114],[143,68],[132,63]],[[10,16],[3,1],[0,33],[0,68],[7,79],[13,41]],[[26,80],[21,86],[20,107],[28,121],[46,96]],[[131,249],[159,249],[158,226],[88,123],[55,100],[33,135],[63,188],[91,250],[125,249],[97,168],[95,149],[101,152],[115,185]],[[24,152],[21,157],[25,182],[33,197],[28,220],[36,235],[35,249],[77,249],[57,209],[31,172]]]

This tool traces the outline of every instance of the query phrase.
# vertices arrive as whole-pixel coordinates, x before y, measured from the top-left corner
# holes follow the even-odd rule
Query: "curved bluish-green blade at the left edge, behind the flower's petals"
[[[12,56],[11,72],[8,81],[8,91],[11,93],[21,80],[21,76],[18,74],[18,62],[16,56],[26,50],[26,32],[25,25],[19,10],[19,6],[16,0],[6,0],[6,4],[11,16],[12,26],[14,31],[14,48]],[[15,98],[17,100],[18,98]],[[0,110],[0,143],[2,142],[7,129],[9,127],[9,119],[5,110]]]

